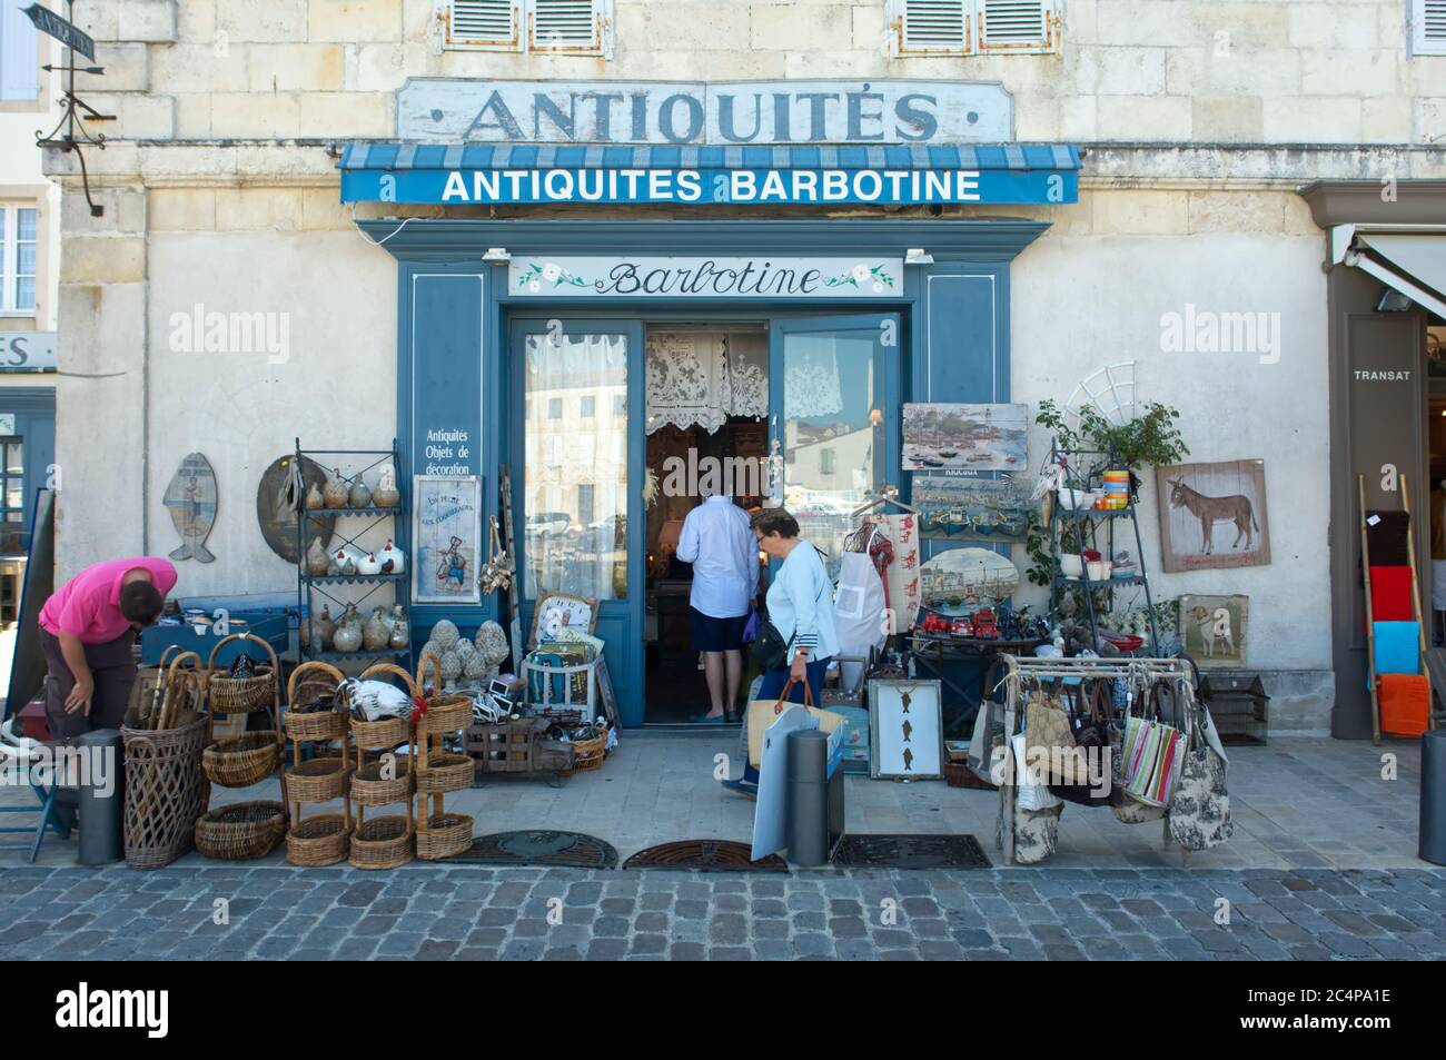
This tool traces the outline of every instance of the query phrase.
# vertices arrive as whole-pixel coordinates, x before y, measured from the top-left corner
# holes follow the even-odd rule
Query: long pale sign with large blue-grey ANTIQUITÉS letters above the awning
[[[999,84],[954,81],[409,80],[403,140],[594,145],[937,145],[1014,139]]]

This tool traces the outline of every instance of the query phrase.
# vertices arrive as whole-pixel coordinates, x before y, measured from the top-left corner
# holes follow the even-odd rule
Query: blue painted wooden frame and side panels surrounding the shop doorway
[[[1048,224],[1012,218],[912,220],[729,220],[729,221],[490,221],[412,218],[360,221],[363,231],[398,259],[398,438],[411,476],[427,463],[429,424],[457,422],[474,431],[469,473],[483,476],[484,515],[500,515],[497,471],[518,453],[510,437],[510,328],[513,320],[620,321],[775,320],[775,327],[859,312],[898,314],[897,367],[885,372],[888,429],[885,480],[899,482],[898,406],[905,401],[998,402],[1009,398],[1009,262]],[[385,243],[383,243],[385,240]],[[606,304],[539,307],[506,289],[506,270],[484,265],[490,247],[522,255],[897,255],[923,246],[933,265],[905,269],[901,298],[830,299],[827,307],[787,299],[609,299]],[[471,282],[455,282],[467,278]],[[820,312],[826,308],[826,312]],[[641,341],[635,343],[641,357]],[[629,375],[629,416],[642,424],[641,367]],[[457,382],[460,380],[460,382]],[[480,389],[480,395],[479,395]],[[777,403],[775,403],[777,408]],[[636,431],[635,431],[636,434]],[[632,444],[630,444],[632,448]],[[641,473],[641,454],[630,473]],[[907,496],[907,483],[901,483]],[[521,509],[521,505],[515,505]],[[641,521],[638,522],[641,535]],[[629,528],[629,534],[633,528]],[[641,544],[641,537],[639,537]],[[930,542],[928,547],[947,547]],[[629,544],[632,550],[632,542]],[[641,571],[641,555],[632,570]],[[641,607],[641,597],[636,600]],[[412,635],[424,641],[448,617],[464,631],[502,617],[496,596],[480,606],[418,606]],[[641,658],[641,625],[638,639]],[[610,661],[612,665],[612,661]],[[632,665],[632,664],[629,664]],[[638,664],[641,693],[641,662]],[[619,687],[623,684],[615,670]],[[629,681],[632,678],[629,677]],[[620,707],[623,723],[642,723],[642,696]]]

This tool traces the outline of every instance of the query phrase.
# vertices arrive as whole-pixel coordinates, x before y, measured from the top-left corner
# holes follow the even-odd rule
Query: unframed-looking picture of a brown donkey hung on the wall
[[[1157,467],[1155,492],[1165,571],[1270,563],[1264,460]]]

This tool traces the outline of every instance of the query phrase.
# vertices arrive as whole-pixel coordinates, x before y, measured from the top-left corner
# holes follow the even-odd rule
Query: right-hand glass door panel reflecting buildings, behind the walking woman
[[[803,535],[839,574],[852,512],[888,483],[889,385],[898,318],[859,314],[777,321],[774,440],[782,457],[782,502]]]

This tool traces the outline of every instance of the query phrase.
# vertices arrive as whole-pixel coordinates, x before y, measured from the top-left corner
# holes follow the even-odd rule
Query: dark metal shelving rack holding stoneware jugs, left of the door
[[[324,600],[340,612],[346,610],[348,603],[356,604],[357,610],[370,600],[377,591],[385,590],[388,586],[392,587],[392,597],[386,600],[375,600],[373,603],[399,603],[406,609],[408,613],[408,631],[411,631],[411,597],[408,589],[411,586],[411,571],[403,571],[402,574],[308,574],[307,573],[307,547],[309,544],[309,529],[312,521],[318,519],[334,519],[335,526],[331,532],[331,541],[322,542],[328,545],[327,551],[337,551],[340,541],[343,545],[356,545],[363,537],[377,529],[386,522],[392,523],[392,532],[388,535],[392,542],[402,550],[406,555],[406,561],[412,561],[412,544],[408,537],[411,529],[411,496],[402,483],[401,477],[401,454],[398,453],[396,438],[392,440],[390,450],[304,450],[301,448],[301,438],[296,440],[296,467],[305,469],[307,463],[317,464],[318,467],[331,469],[335,466],[335,458],[348,458],[348,461],[360,463],[362,467],[357,469],[350,476],[344,476],[350,480],[357,480],[367,471],[380,467],[385,463],[392,464],[398,471],[396,489],[401,496],[393,508],[320,508],[308,509],[305,499],[302,499],[301,509],[296,518],[296,613],[299,622],[309,622],[311,607],[317,603],[318,597]],[[366,519],[367,522],[354,531],[344,531],[341,528],[341,521],[357,521]],[[370,551],[370,550],[369,550]],[[328,589],[366,587],[367,591],[362,593],[359,597],[351,597],[350,594],[333,594]],[[340,613],[338,612],[338,613]],[[304,661],[314,659],[317,662],[366,662],[372,664],[376,661],[396,662],[405,670],[412,668],[412,648],[408,644],[402,649],[382,649],[382,651],[366,651],[359,648],[354,652],[338,652],[338,651],[318,651],[317,645],[307,644],[301,645],[301,658]]]

